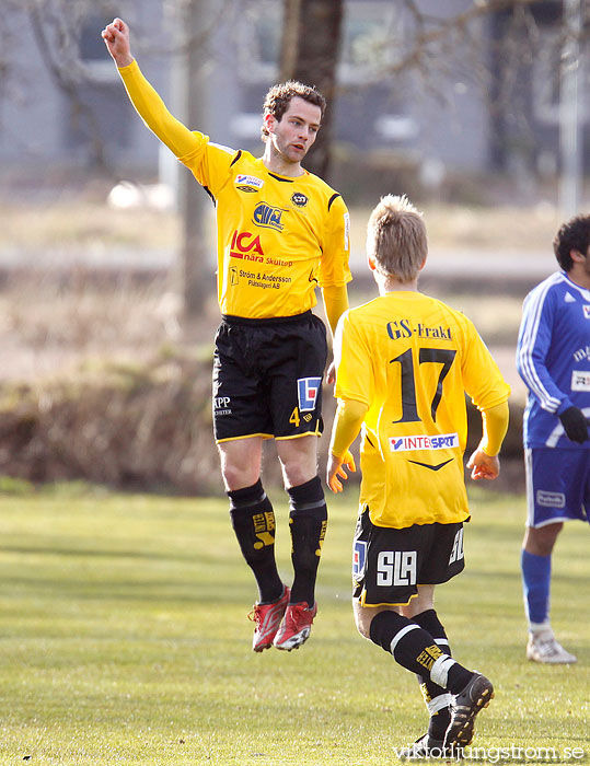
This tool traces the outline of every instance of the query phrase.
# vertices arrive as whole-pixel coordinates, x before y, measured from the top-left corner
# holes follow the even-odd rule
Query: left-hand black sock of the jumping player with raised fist
[[[282,594],[275,561],[275,513],[261,479],[252,487],[228,492],[233,531],[242,555],[254,572],[258,601],[273,602]]]

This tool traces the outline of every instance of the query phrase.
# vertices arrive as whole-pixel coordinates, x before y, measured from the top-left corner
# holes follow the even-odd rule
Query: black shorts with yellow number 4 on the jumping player
[[[294,317],[223,317],[213,358],[216,441],[320,434],[326,328],[311,311]]]

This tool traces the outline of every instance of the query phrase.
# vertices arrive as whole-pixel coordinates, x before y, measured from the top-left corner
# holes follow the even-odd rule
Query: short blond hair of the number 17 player
[[[389,194],[372,211],[367,225],[367,255],[377,270],[400,282],[413,281],[428,254],[423,214],[409,199]]]

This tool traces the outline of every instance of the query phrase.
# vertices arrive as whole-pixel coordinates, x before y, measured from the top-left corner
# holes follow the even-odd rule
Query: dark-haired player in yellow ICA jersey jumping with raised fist
[[[217,207],[222,322],[213,361],[213,428],[233,529],[252,568],[254,651],[303,643],[317,611],[315,579],[327,524],[317,476],[326,330],[312,314],[322,288],[334,330],[348,307],[349,217],[340,195],[302,166],[322,123],[323,96],[299,82],[271,88],[262,158],[234,151],[175,119],[131,56],[129,27],[102,33],[147,126]],[[262,446],[277,440],[290,503],[294,579],[275,562],[275,515],[261,481]]]

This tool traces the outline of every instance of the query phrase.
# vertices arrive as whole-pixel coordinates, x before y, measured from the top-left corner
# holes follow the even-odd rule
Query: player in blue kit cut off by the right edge
[[[523,420],[528,518],[521,554],[527,657],[576,662],[549,622],[552,553],[564,521],[590,521],[590,216],[562,225],[563,270],[524,301],[517,367],[529,388]]]

